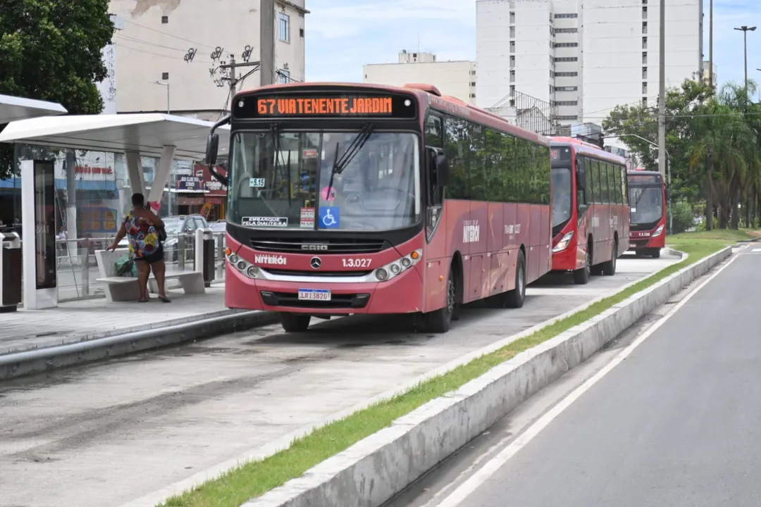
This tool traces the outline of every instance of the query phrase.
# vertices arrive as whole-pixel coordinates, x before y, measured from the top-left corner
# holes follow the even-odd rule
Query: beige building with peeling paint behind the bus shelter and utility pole
[[[231,55],[236,62],[259,61],[259,2],[111,0],[110,12],[124,21],[113,39],[118,112],[169,109],[216,120],[231,98],[220,63]],[[275,67],[282,81],[304,81],[306,14],[305,0],[275,2]],[[237,68],[237,76],[250,70]],[[238,90],[259,85],[256,71]]]

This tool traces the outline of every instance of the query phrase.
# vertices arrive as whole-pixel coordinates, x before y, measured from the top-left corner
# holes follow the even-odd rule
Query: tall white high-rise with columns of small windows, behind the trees
[[[511,92],[552,103],[560,125],[658,103],[659,0],[479,0],[479,106]],[[702,71],[702,2],[666,5],[666,86]]]

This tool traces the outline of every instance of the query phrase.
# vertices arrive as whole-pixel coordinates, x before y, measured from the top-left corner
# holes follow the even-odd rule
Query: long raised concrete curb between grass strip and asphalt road
[[[458,391],[428,402],[242,507],[383,505],[731,253],[732,247],[728,247],[677,271],[597,317],[496,366]]]

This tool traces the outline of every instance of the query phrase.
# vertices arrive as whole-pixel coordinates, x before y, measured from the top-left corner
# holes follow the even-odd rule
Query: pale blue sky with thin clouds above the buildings
[[[759,2],[714,0],[720,85],[743,81],[743,34],[734,30],[743,24],[759,26],[748,32],[748,77],[761,81]],[[476,59],[476,0],[307,0],[307,8],[307,81],[361,82],[362,65],[396,62],[401,49],[432,51],[440,61]]]

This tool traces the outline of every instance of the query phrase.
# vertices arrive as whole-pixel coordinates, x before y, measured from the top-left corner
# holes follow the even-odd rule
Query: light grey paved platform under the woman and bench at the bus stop
[[[148,303],[108,303],[105,298],[98,298],[59,303],[55,309],[20,308],[14,313],[0,314],[0,360],[7,354],[97,341],[139,331],[170,331],[193,322],[201,328],[204,321],[212,318],[240,315],[242,320],[245,320],[244,316],[250,320],[252,314],[262,314],[261,317],[266,314],[225,308],[224,287],[219,286],[207,288],[205,294],[186,295],[172,290],[168,295],[171,303],[161,303],[158,299]],[[194,339],[193,333],[187,334],[186,340]]]

